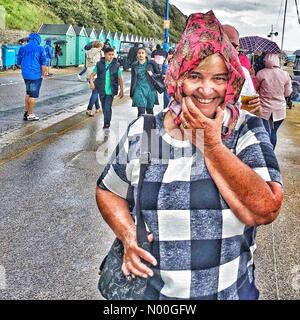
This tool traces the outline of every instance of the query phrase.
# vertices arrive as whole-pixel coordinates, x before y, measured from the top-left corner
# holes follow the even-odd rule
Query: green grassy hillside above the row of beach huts
[[[65,23],[163,39],[165,0],[0,0],[1,5],[8,29],[37,31],[43,23]],[[170,19],[170,40],[176,42],[185,16],[171,6]]]

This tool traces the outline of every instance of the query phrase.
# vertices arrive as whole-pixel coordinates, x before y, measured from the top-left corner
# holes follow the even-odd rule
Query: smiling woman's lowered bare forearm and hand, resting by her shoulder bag
[[[132,273],[144,278],[152,276],[153,271],[141,262],[141,258],[152,265],[157,262],[149,252],[137,245],[136,228],[127,201],[99,187],[96,188],[96,201],[104,220],[124,245],[124,274]],[[152,237],[149,240],[151,241]]]

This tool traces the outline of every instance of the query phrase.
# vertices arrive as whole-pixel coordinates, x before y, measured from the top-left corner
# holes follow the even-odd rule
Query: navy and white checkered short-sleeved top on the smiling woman
[[[228,117],[226,110],[224,130]],[[230,210],[200,152],[163,130],[163,113],[156,116],[156,128],[159,148],[152,146],[141,193],[142,214],[154,234],[152,254],[158,261],[145,299],[248,299],[251,292],[254,298],[256,228],[243,224]],[[131,204],[139,179],[142,130],[142,118],[129,126],[98,180],[100,188]],[[265,181],[281,183],[259,118],[241,111],[234,132],[223,143]]]

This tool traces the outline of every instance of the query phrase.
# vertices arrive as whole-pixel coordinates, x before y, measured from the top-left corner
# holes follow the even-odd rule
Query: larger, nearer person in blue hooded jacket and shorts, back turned
[[[25,112],[23,119],[37,121],[39,117],[32,113],[39,97],[42,78],[47,73],[47,58],[44,48],[40,45],[42,39],[39,34],[32,32],[29,42],[20,48],[17,64],[21,66],[22,77],[26,86]]]

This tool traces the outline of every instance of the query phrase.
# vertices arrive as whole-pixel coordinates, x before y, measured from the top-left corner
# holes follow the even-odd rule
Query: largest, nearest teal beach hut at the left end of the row
[[[58,65],[61,67],[76,65],[76,33],[71,24],[42,24],[38,30],[41,38],[62,40],[63,55],[59,57]]]

